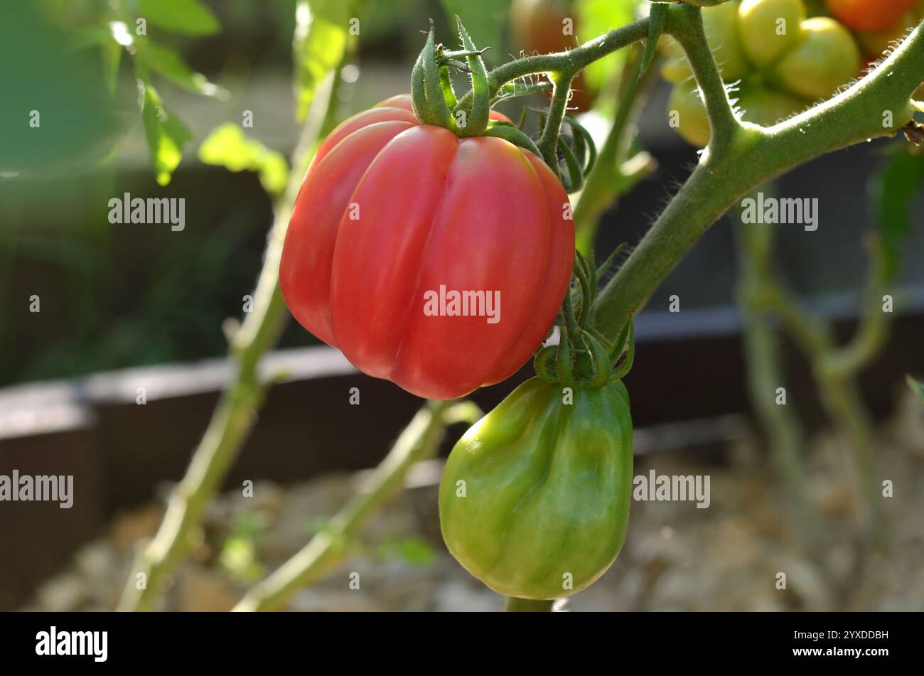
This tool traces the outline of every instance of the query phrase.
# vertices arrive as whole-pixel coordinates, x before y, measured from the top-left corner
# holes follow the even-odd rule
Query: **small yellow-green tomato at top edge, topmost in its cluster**
[[[739,30],[750,62],[763,68],[792,49],[799,42],[799,27],[805,18],[802,0],[742,0]]]

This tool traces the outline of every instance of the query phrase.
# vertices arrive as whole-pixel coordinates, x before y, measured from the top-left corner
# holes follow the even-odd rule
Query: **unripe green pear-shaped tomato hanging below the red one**
[[[626,538],[632,419],[626,387],[573,392],[532,378],[456,443],[440,483],[446,547],[498,594],[561,598]]]

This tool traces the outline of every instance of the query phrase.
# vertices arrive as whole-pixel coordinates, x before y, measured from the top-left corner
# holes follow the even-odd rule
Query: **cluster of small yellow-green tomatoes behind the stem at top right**
[[[828,17],[807,18],[802,0],[731,0],[702,10],[706,36],[726,83],[740,81],[737,105],[748,122],[771,126],[825,99],[857,76],[860,54],[850,31]],[[680,134],[696,146],[710,128],[680,45],[664,43],[668,102]]]

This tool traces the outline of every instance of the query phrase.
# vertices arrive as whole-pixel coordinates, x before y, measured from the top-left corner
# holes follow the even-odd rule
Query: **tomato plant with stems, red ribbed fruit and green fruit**
[[[281,323],[276,269],[289,308],[306,328],[362,370],[411,392],[454,397],[503,380],[535,351],[537,377],[475,423],[450,456],[440,489],[445,542],[469,571],[517,598],[567,596],[610,565],[626,534],[632,421],[621,379],[632,365],[638,310],[742,196],[826,152],[900,132],[911,140],[924,136],[914,119],[922,106],[912,100],[921,80],[924,31],[913,31],[862,83],[768,131],[736,115],[728,95],[733,82],[741,80],[733,93],[740,95],[746,119],[770,121],[831,95],[842,75],[853,77],[857,47],[843,26],[830,18],[805,18],[790,0],[716,2],[660,3],[649,17],[567,54],[529,54],[490,73],[461,23],[459,50],[437,46],[431,29],[411,71],[411,95],[355,115],[322,141],[294,211],[280,200],[255,294],[260,311],[232,334],[237,380],[180,486],[182,499],[170,502],[164,535],[144,553],[154,590],[145,592],[146,607],[181,559],[190,528],[201,523],[210,491],[225,477],[252,424],[261,399],[256,367]],[[299,12],[299,21],[312,16]],[[346,19],[341,24],[346,33]],[[322,30],[332,25],[337,24],[323,18]],[[302,39],[311,37],[307,27],[301,29]],[[675,88],[672,100],[678,108],[688,106],[681,116],[696,122],[707,149],[638,246],[612,276],[604,275],[619,250],[602,269],[579,253],[574,260],[566,187],[584,186],[580,199],[590,187],[612,196],[614,187],[605,184],[632,176],[624,169],[627,162],[594,164],[590,135],[565,115],[570,87],[582,69],[629,45],[649,41],[651,47],[641,53],[647,58],[662,34],[675,41],[665,41],[671,56],[665,73],[680,78],[687,68],[683,77],[696,80],[695,90]],[[650,61],[636,63],[644,76],[643,65]],[[320,72],[331,75],[334,67]],[[456,97],[451,68],[469,78],[463,96]],[[302,75],[316,84],[312,78],[318,73],[309,70]],[[553,91],[540,112],[540,134],[532,139],[491,113],[491,106],[536,91],[537,76],[547,78]],[[617,118],[629,117],[631,91],[621,91],[627,101],[620,101]],[[327,95],[330,108],[335,97]],[[614,120],[613,128],[625,131],[626,119]],[[611,139],[601,159],[613,160],[619,143],[631,143]],[[313,147],[313,137],[303,140],[308,142],[299,145]],[[295,166],[298,180],[303,165]],[[583,181],[594,172],[604,176],[602,184]],[[298,185],[289,183],[286,194]],[[276,243],[286,225],[280,253]],[[476,300],[482,294],[483,312],[466,313],[459,296],[447,295],[467,291]],[[432,311],[428,296],[437,301]],[[870,315],[883,314],[879,297],[873,297]],[[553,323],[558,342],[542,345]],[[803,333],[828,352],[833,335],[814,327]],[[869,358],[867,346],[859,346],[859,356],[852,347],[825,363],[828,377],[841,379],[832,380],[837,392],[850,384],[843,374]],[[468,416],[453,415],[466,404]],[[400,486],[408,467],[436,452],[445,426],[473,419],[470,407],[470,402],[424,404],[369,489],[255,585],[238,609],[285,605],[298,588],[329,572],[364,521]],[[135,578],[128,584],[134,588]]]

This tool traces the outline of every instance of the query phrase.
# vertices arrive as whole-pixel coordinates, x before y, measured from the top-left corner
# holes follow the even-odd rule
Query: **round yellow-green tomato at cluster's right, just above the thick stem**
[[[826,99],[857,77],[860,52],[853,35],[833,18],[802,22],[802,39],[773,68],[785,91],[807,99]]]

